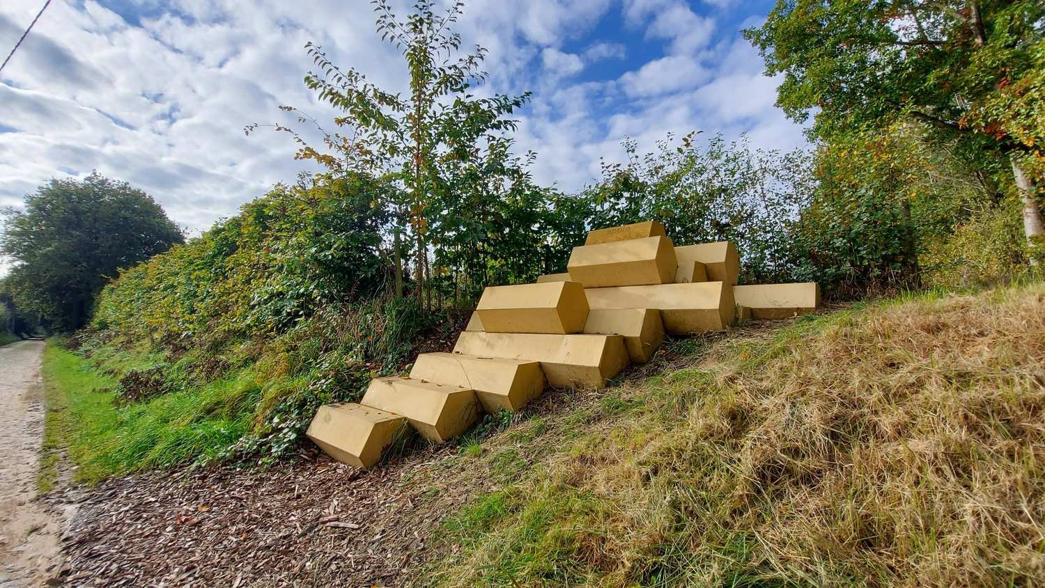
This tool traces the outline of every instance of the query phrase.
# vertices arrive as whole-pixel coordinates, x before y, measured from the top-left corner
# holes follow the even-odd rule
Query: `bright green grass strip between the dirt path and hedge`
[[[145,363],[131,355],[107,360],[108,366]],[[218,381],[117,406],[113,392],[117,380],[107,372],[53,342],[48,344],[43,362],[48,413],[41,490],[53,486],[60,448],[79,466],[75,479],[88,484],[215,456],[250,430],[251,407],[261,391],[253,373],[240,370]]]

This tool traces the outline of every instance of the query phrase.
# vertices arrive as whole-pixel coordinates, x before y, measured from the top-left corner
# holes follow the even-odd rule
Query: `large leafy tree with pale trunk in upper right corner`
[[[815,113],[814,139],[907,119],[939,144],[959,141],[974,165],[1007,158],[1036,242],[1043,19],[1040,0],[780,0],[745,34],[766,72],[783,74],[777,104],[798,121]]]

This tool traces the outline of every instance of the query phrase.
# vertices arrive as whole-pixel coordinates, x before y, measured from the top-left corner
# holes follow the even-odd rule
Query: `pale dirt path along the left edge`
[[[0,347],[0,588],[41,586],[59,569],[64,517],[37,496],[44,343]]]

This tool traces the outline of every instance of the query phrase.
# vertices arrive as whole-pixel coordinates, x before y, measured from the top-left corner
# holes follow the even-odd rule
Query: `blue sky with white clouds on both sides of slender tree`
[[[0,2],[0,52],[43,0]],[[668,132],[747,133],[757,146],[804,144],[774,109],[740,29],[771,0],[470,0],[466,43],[490,51],[487,92],[532,90],[518,117],[535,177],[575,190]],[[314,41],[334,63],[402,89],[401,57],[367,0],[52,0],[0,73],[0,208],[50,178],[97,169],[155,196],[193,234],[305,164],[285,135],[293,104],[333,113],[302,83]]]

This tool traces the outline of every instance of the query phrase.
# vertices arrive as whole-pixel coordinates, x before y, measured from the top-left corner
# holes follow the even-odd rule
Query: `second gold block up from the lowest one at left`
[[[470,389],[398,377],[371,380],[359,403],[407,417],[418,432],[436,443],[468,430],[480,411]]]

